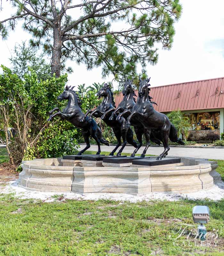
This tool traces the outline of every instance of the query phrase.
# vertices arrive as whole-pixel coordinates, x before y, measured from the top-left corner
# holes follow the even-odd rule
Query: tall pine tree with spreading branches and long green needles
[[[8,29],[23,20],[24,30],[32,35],[30,45],[42,46],[51,55],[52,74],[57,77],[67,59],[84,63],[88,69],[102,66],[102,76],[112,73],[117,81],[136,76],[138,63],[144,73],[147,63],[156,64],[158,45],[171,48],[173,24],[181,15],[179,0],[10,2],[16,13],[0,21],[0,35],[7,38]],[[113,29],[119,20],[123,20],[121,28]]]

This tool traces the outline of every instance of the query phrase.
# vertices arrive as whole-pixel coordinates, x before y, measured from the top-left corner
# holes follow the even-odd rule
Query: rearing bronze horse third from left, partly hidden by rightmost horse
[[[114,119],[114,115],[119,114],[116,118],[116,120],[120,120],[122,117],[124,117],[125,119],[128,118],[128,116],[132,113],[132,109],[134,107],[134,105],[136,104],[136,100],[134,98],[135,93],[134,90],[132,88],[132,81],[131,79],[126,80],[125,84],[124,84],[124,90],[123,92],[123,100],[120,102],[120,104],[118,105],[118,107],[116,108],[116,110],[112,113],[112,115],[110,116],[109,120]],[[149,100],[151,102],[152,97],[149,97]],[[155,102],[151,102],[152,104],[156,104]],[[105,113],[104,115],[106,115],[107,113]],[[103,119],[103,117],[101,117]],[[155,142],[156,144],[160,145],[160,140],[156,139],[153,132],[151,132],[151,136],[150,133],[148,133],[148,130],[146,128],[144,128],[144,126],[139,122],[139,120],[137,118],[132,118],[131,120],[131,125],[134,127],[134,131],[135,134],[137,136],[137,139],[139,141],[139,145],[138,147],[134,150],[134,152],[132,153],[131,156],[135,156],[135,154],[137,153],[137,151],[140,149],[140,147],[142,146],[142,135],[145,135],[146,138],[146,147],[143,151],[143,153],[141,154],[141,157],[145,157],[146,151],[148,149],[148,147],[150,146],[150,140],[152,142]]]

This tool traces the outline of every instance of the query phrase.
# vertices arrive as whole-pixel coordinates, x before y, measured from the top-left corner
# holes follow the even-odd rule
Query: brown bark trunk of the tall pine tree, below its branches
[[[52,48],[52,62],[51,62],[51,73],[52,75],[55,73],[56,77],[60,76],[61,69],[61,32],[60,27],[54,27],[54,44]]]

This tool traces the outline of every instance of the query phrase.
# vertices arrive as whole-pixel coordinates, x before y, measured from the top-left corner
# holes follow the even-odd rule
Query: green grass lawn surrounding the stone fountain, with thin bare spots
[[[6,150],[0,149],[0,163],[6,160]],[[218,163],[217,171],[223,177],[224,161]],[[57,200],[60,197],[65,200]],[[130,203],[68,200],[66,194],[55,194],[53,198],[54,202],[45,203],[0,194],[0,256],[224,255],[224,199]],[[190,232],[196,233],[196,227],[184,225],[194,224],[195,205],[209,207],[211,217],[206,228],[208,232],[218,229],[216,246],[214,241],[210,246],[201,245],[199,239],[196,244],[186,241]],[[186,232],[174,246],[172,239],[177,234],[173,231],[180,228],[177,222]],[[197,246],[207,251],[194,251]]]

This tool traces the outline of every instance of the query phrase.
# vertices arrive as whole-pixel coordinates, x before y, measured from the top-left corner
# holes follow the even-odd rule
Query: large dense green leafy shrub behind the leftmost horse
[[[54,124],[46,122],[52,107],[63,108],[66,104],[57,101],[57,96],[64,90],[67,75],[39,81],[34,70],[29,69],[20,79],[9,68],[1,67],[0,116],[11,163],[18,166],[22,159],[74,154],[76,128],[60,119],[55,119]],[[8,136],[10,127],[16,129],[13,137]]]

